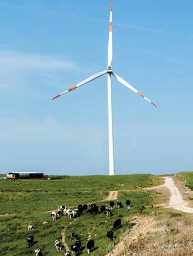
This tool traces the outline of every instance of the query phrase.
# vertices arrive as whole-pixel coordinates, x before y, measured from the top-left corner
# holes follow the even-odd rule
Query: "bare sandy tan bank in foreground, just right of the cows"
[[[135,217],[132,218],[131,221],[136,222],[136,225],[126,237],[115,245],[114,250],[109,252],[106,256],[126,255],[128,247],[136,242],[139,237],[146,235],[150,228],[155,224],[153,217]]]

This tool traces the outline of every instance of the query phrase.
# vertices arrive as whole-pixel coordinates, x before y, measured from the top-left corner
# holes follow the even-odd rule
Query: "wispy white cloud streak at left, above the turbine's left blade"
[[[0,49],[0,69],[8,71],[12,69],[36,69],[56,71],[64,69],[76,69],[73,62],[65,61],[54,56],[31,54],[28,52],[12,52]]]

